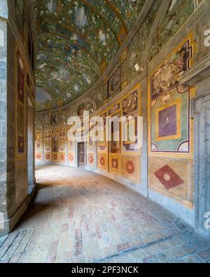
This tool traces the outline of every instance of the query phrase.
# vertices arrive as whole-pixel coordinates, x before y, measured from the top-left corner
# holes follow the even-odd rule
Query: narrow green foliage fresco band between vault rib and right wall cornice
[[[155,58],[155,55],[157,55],[167,42],[172,39],[172,36],[174,36],[183,23],[188,20],[197,7],[193,0],[169,1],[165,13],[160,19],[160,26],[153,26],[161,3],[162,1],[160,0],[154,2],[151,11],[148,13],[144,22],[142,22],[137,34],[132,39],[120,60],[116,63],[115,67],[111,69],[106,79],[104,79],[104,83],[91,93],[98,107],[104,104],[106,98],[110,100],[111,97],[116,96],[134,80],[139,74],[135,65],[138,65],[140,69],[144,68],[148,62]],[[149,41],[148,39],[153,32],[153,28],[156,29],[156,32],[153,34],[153,37],[151,37],[151,41]],[[118,72],[118,67],[120,67],[120,72]],[[116,90],[111,90],[111,85],[113,84],[116,86]]]

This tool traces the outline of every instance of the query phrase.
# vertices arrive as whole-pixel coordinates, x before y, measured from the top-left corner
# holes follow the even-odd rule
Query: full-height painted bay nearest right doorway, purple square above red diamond
[[[149,77],[149,187],[193,208],[193,88],[179,76],[193,65],[193,32]],[[167,154],[167,156],[164,154]]]

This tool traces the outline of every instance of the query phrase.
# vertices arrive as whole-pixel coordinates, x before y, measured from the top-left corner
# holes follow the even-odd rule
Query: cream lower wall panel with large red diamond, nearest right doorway
[[[151,157],[149,188],[193,208],[193,160]]]

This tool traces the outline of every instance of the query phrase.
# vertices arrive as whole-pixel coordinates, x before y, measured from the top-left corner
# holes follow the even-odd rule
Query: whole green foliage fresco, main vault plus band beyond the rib
[[[83,95],[109,66],[145,3],[36,0],[36,110],[59,107]],[[144,67],[158,55],[201,1],[168,1],[158,27],[154,27],[160,4],[161,0],[154,1],[124,57],[90,93],[98,107],[137,76],[135,65]]]

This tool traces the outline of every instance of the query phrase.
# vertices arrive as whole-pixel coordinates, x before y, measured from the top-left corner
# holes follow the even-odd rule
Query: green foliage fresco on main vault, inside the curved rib
[[[38,32],[36,111],[40,111],[72,102],[99,79],[145,0],[34,2]]]

